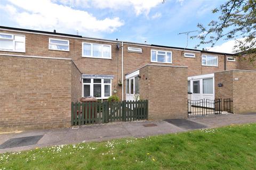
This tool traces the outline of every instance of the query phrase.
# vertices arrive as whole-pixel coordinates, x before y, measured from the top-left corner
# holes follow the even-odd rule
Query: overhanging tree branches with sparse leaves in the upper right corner
[[[250,54],[249,61],[256,61],[256,0],[228,0],[212,13],[220,14],[217,21],[211,21],[207,27],[197,24],[198,35],[191,37],[201,40],[196,47],[203,44],[213,47],[222,38],[240,39],[233,52]]]

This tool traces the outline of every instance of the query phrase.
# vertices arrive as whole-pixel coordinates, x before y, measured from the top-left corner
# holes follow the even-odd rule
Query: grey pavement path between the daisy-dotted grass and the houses
[[[205,125],[207,128],[216,128],[229,124],[256,122],[256,113],[247,115],[227,114],[190,117],[188,118],[188,121],[180,121],[182,122],[180,125],[177,123],[174,123],[174,125],[172,123],[168,123],[167,121],[159,120],[95,124],[79,126],[77,128],[32,130],[20,133],[0,133],[0,145],[13,138],[31,137],[37,135],[43,136],[35,145],[0,149],[0,153],[79,142],[103,141],[127,137],[146,137],[149,135],[185,132],[191,130],[186,128],[187,126],[184,125],[184,123],[189,123],[190,121]],[[193,122],[190,123],[193,124]]]

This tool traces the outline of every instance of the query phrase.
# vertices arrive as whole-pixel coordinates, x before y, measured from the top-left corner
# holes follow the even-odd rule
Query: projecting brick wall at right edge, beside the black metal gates
[[[214,74],[215,98],[233,99],[234,113],[256,112],[256,71],[230,70]],[[217,87],[222,83],[223,87]]]

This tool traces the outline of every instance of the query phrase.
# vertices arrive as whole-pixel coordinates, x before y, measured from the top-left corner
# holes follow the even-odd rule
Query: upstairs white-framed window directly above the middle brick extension
[[[172,52],[151,50],[151,62],[172,63]]]

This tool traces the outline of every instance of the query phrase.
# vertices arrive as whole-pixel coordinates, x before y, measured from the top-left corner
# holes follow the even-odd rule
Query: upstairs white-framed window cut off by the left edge
[[[25,52],[25,36],[0,33],[0,50]]]

